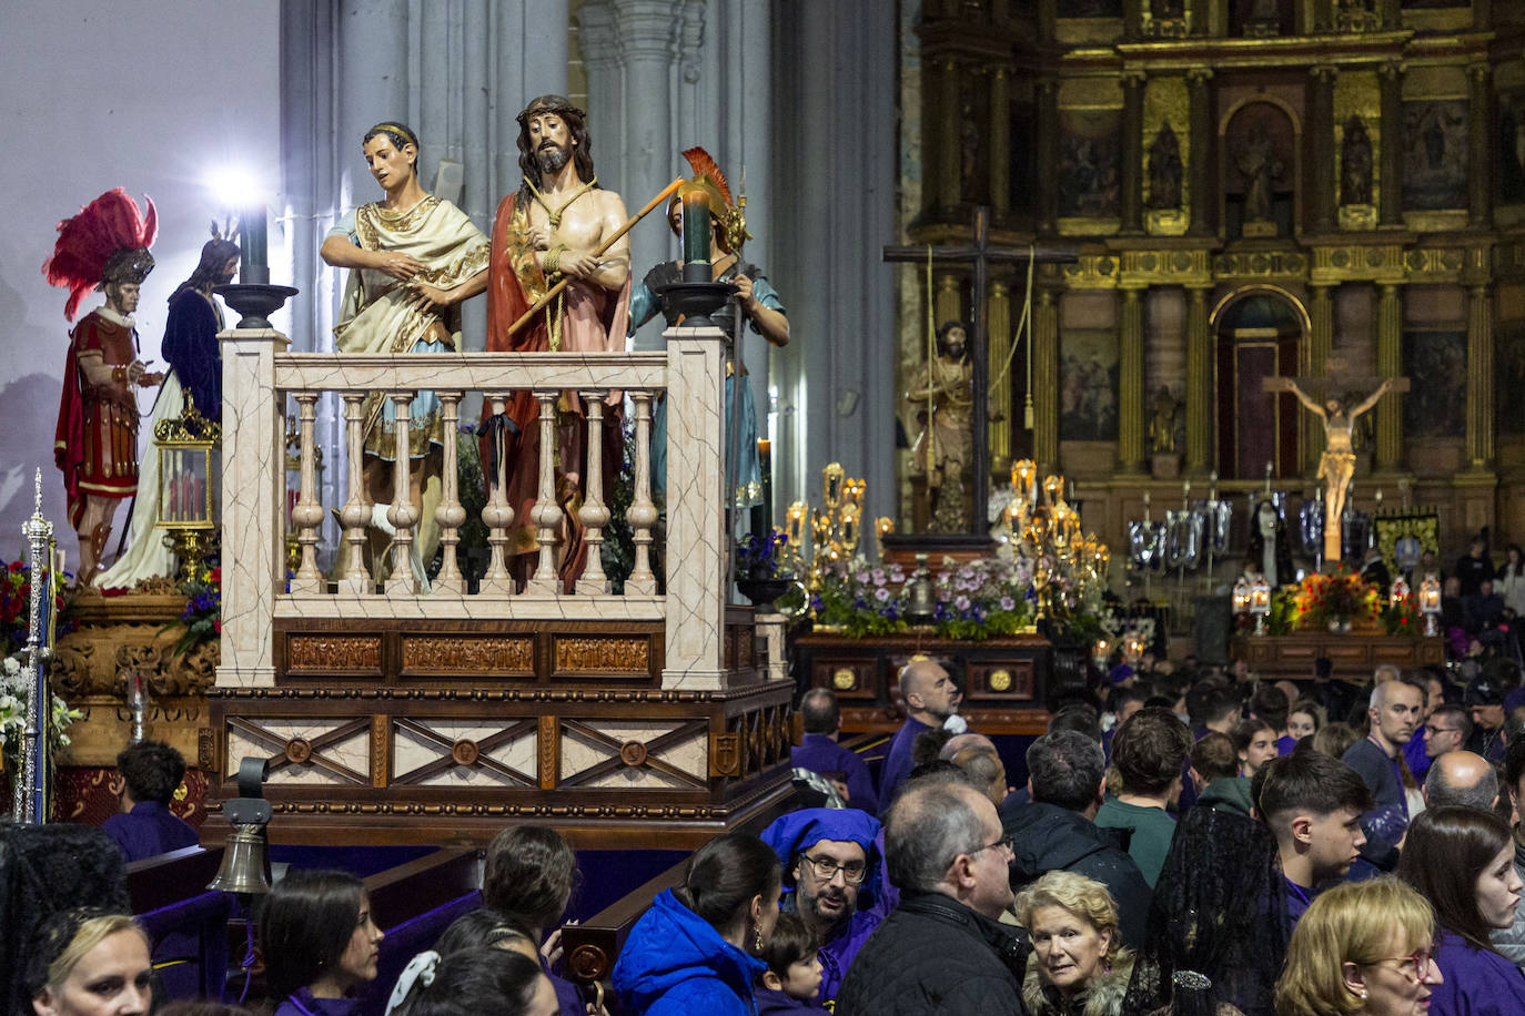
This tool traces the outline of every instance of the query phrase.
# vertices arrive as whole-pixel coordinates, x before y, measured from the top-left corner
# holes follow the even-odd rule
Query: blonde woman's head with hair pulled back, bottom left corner
[[[24,976],[37,1016],[143,1016],[148,935],[125,914],[63,911],[38,928]]]

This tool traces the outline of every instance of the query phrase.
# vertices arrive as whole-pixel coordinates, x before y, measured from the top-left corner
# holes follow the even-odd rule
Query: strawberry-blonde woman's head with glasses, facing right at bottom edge
[[[1292,934],[1276,1011],[1421,1016],[1441,984],[1438,931],[1430,905],[1395,877],[1336,885],[1313,900]]]

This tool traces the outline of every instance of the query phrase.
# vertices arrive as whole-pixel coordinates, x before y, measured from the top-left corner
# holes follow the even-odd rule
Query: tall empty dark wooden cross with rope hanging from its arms
[[[990,209],[974,209],[973,236],[968,244],[889,244],[884,260],[892,264],[926,264],[927,251],[939,264],[973,265],[973,291],[970,292],[968,347],[974,359],[973,402],[973,533],[984,535],[988,529],[985,512],[990,504],[990,341],[987,340],[985,292],[990,288],[991,265],[1026,265],[1031,257],[1037,264],[1068,264],[1080,260],[1074,247],[1039,244],[1028,247],[999,247],[990,241]],[[1046,396],[1051,398],[1051,393]]]

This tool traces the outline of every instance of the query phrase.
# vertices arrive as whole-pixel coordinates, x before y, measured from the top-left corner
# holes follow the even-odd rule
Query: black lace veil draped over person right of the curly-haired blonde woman
[[[1263,824],[1191,809],[1154,885],[1124,1016],[1275,1016],[1287,888]]]

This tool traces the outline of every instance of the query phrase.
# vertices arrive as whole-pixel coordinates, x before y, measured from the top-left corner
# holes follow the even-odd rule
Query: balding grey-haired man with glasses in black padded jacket
[[[1011,1016],[1031,947],[1000,923],[1011,906],[1011,839],[996,806],[964,783],[913,780],[889,809],[889,877],[904,894],[865,943],[837,1016]]]

